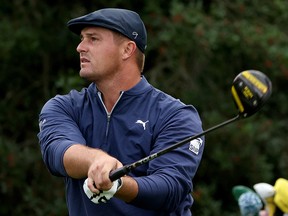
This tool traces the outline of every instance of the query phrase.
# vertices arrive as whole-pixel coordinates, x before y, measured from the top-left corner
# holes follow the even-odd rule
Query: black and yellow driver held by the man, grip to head
[[[173,149],[176,149],[191,140],[199,138],[204,134],[207,134],[211,131],[214,131],[218,128],[221,128],[225,125],[228,125],[232,122],[235,122],[242,118],[247,118],[254,113],[256,113],[268,100],[272,93],[272,84],[270,79],[262,72],[257,70],[246,70],[239,73],[233,83],[231,93],[238,108],[238,115],[234,118],[231,118],[227,121],[224,121],[214,127],[211,127],[203,132],[196,134],[194,136],[188,137],[168,148],[165,148],[159,152],[151,154],[143,159],[140,159],[132,164],[125,165],[119,169],[112,171],[109,175],[111,181],[128,174],[131,170],[136,167],[145,164],[163,154],[166,154]]]

